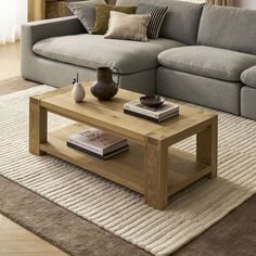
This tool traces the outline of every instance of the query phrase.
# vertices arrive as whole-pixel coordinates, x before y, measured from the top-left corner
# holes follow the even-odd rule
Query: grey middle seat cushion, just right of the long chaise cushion
[[[256,55],[212,47],[182,47],[158,55],[168,68],[227,81],[240,81],[240,75],[256,65]]]

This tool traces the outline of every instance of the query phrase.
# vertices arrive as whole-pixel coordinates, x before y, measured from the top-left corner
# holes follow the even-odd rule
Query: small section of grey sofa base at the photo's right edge
[[[241,116],[256,120],[256,89],[243,87],[241,91]]]

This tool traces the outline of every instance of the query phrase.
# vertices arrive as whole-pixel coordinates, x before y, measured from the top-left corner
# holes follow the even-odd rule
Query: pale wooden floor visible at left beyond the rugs
[[[21,76],[20,43],[0,46],[0,80]],[[25,89],[25,88],[24,88]],[[0,95],[17,88],[4,88]],[[0,215],[0,256],[66,256],[55,246],[43,241],[10,219]]]

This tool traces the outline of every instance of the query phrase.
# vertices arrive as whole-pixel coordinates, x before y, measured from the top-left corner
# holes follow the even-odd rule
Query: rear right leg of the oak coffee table
[[[210,165],[210,178],[217,176],[217,117],[213,118],[212,125],[196,135],[196,159]]]

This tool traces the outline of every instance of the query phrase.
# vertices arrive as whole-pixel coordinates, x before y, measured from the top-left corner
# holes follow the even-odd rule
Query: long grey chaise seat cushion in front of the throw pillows
[[[181,42],[158,38],[148,42],[104,39],[102,35],[75,35],[38,41],[36,54],[54,61],[98,68],[116,66],[120,74],[133,74],[157,67],[157,55]]]

